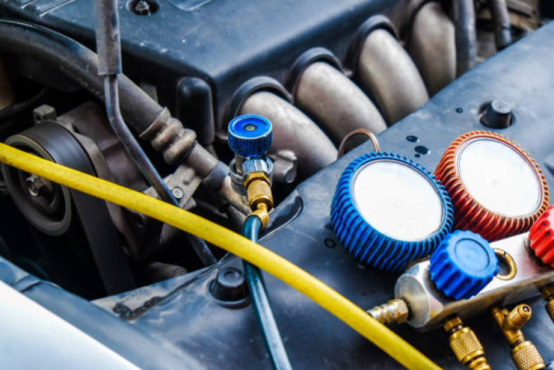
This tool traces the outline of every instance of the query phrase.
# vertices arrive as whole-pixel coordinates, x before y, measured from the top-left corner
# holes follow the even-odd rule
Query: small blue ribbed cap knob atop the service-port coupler
[[[269,150],[272,127],[268,119],[257,115],[242,115],[229,122],[229,146],[243,157],[259,157]]]

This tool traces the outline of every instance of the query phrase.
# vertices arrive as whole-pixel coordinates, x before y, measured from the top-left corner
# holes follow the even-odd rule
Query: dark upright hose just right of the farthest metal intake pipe
[[[456,74],[461,76],[476,64],[477,33],[474,0],[454,0],[456,26]]]

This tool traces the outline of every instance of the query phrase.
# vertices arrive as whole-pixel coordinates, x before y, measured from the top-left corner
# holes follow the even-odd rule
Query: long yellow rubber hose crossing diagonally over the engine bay
[[[231,230],[140,192],[38,158],[6,144],[0,144],[0,162],[121,205],[135,212],[143,213],[175,226],[175,228],[180,228],[187,233],[201,237],[207,242],[243,258],[243,260],[255,264],[267,271],[268,274],[305,294],[388,353],[404,367],[408,369],[440,369],[404,339],[401,339],[322,281],[272,251]]]

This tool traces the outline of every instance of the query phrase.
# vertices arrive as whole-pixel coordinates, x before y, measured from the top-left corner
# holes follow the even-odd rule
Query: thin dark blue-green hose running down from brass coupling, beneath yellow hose
[[[260,219],[256,216],[249,216],[244,221],[242,234],[252,240],[252,242],[257,242],[260,228]],[[273,368],[277,370],[293,369],[291,362],[288,360],[288,355],[286,354],[281,334],[279,334],[279,328],[277,328],[275,317],[273,317],[266,287],[261,278],[261,271],[258,267],[246,261],[243,262],[243,267],[248,289],[250,291],[250,298],[252,298],[254,311],[256,312],[259,327],[261,328],[263,339],[266,342]]]

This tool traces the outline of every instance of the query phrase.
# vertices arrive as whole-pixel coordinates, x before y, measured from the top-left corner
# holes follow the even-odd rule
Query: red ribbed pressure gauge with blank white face
[[[526,232],[548,206],[548,186],[535,160],[498,133],[458,137],[435,176],[452,200],[454,228],[490,242]]]

